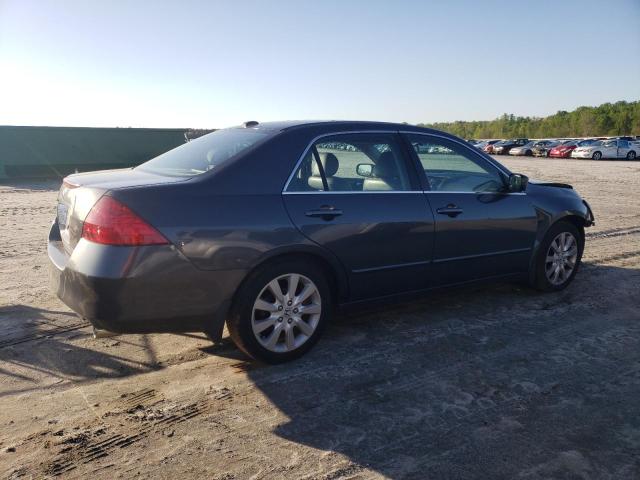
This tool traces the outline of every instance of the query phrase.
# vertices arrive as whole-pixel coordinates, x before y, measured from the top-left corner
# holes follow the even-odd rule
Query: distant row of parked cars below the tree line
[[[522,155],[555,158],[622,158],[635,160],[640,156],[640,136],[614,138],[555,138],[529,140],[469,140],[474,147],[492,155]]]

